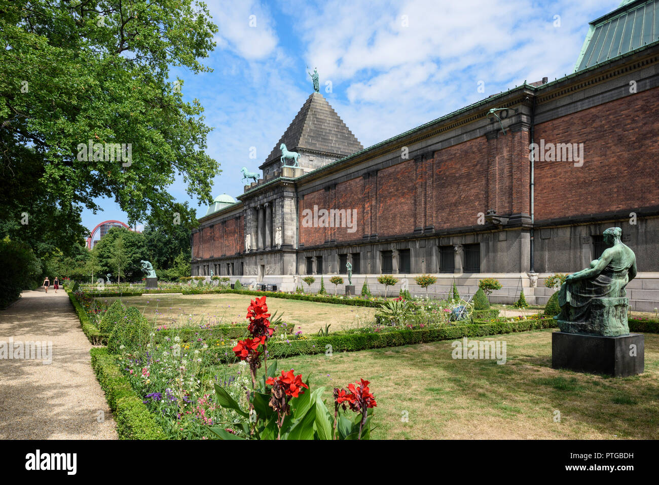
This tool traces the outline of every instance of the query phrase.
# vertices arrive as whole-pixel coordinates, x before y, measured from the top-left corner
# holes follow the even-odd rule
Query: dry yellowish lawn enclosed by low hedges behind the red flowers
[[[101,297],[108,303],[121,300],[129,306],[136,306],[156,326],[246,324],[245,314],[250,304],[249,295],[231,293],[214,295],[143,295],[142,297]],[[268,310],[283,313],[285,322],[300,327],[302,333],[316,333],[318,329],[331,324],[330,331],[363,326],[374,320],[375,308],[348,306],[332,303],[318,303],[282,298],[268,298]]]

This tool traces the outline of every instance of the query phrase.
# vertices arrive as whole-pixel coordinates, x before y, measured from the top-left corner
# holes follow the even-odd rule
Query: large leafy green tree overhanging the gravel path
[[[199,60],[216,32],[194,0],[0,0],[1,234],[67,254],[84,235],[82,208],[100,209],[99,198],[131,223],[179,212],[193,224],[168,188],[183,175],[210,204],[219,166],[205,152],[202,106],[183,101],[169,69],[211,71]],[[16,225],[22,212],[34,225]]]

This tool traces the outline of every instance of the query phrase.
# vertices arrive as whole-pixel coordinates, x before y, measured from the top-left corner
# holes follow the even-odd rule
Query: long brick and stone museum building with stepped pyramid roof
[[[639,30],[639,26],[640,30]],[[299,166],[280,147],[299,154]],[[291,291],[307,274],[434,273],[430,293],[482,277],[544,303],[545,275],[586,268],[621,227],[637,256],[631,306],[659,300],[659,0],[590,24],[575,72],[517,86],[363,148],[314,92],[234,200],[192,233],[192,274]],[[327,279],[327,278],[326,278]],[[539,281],[539,284],[538,284]],[[325,281],[326,287],[328,281]],[[358,289],[360,286],[358,286]],[[331,287],[328,287],[331,289]],[[391,289],[389,289],[391,292]],[[420,292],[421,293],[421,292]],[[424,293],[424,292],[422,292]]]

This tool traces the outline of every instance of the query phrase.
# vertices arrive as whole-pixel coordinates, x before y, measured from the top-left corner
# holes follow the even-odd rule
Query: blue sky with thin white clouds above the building
[[[214,71],[173,69],[171,77],[183,79],[184,98],[200,100],[214,127],[208,154],[222,172],[213,195],[235,197],[243,192],[241,167],[258,169],[312,93],[307,65],[318,68],[320,92],[366,147],[524,80],[569,74],[588,22],[620,1],[206,3],[219,28],[204,61]],[[190,200],[180,178],[170,192]],[[88,229],[127,221],[113,200],[99,202],[103,212],[82,214]],[[190,204],[206,214],[206,206]]]

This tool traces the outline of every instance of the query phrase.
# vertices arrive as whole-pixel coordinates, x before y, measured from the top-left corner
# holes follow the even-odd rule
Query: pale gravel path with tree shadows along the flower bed
[[[47,294],[42,288],[24,291],[18,302],[0,311],[0,345],[10,338],[14,349],[18,342],[52,342],[52,363],[1,356],[0,440],[117,439],[90,364],[92,345],[63,289],[57,295],[53,289]]]

